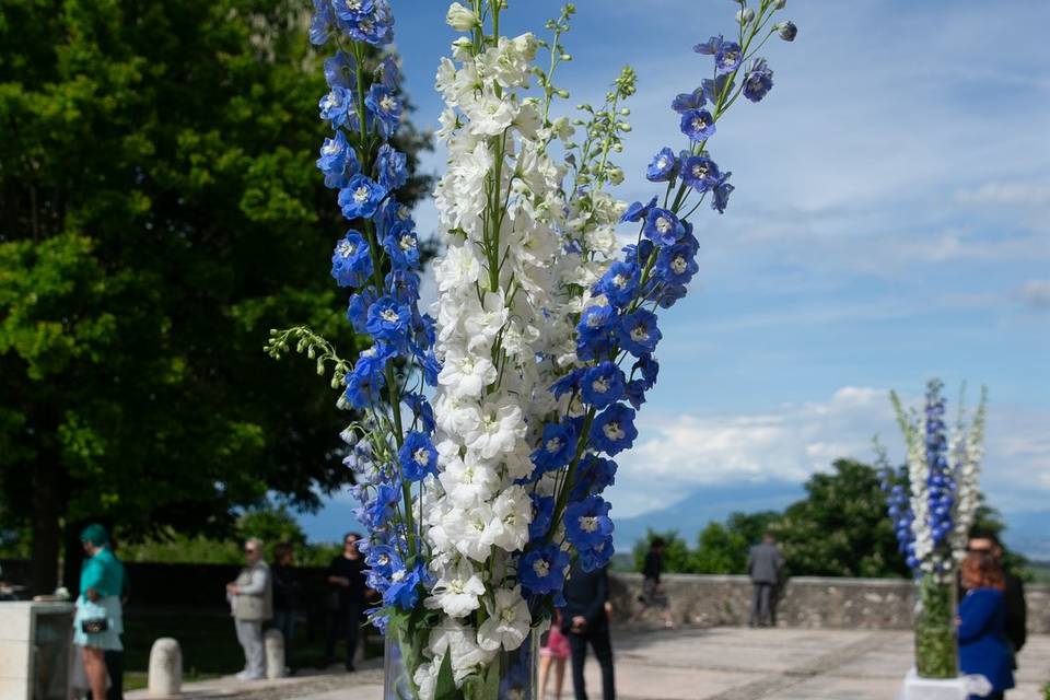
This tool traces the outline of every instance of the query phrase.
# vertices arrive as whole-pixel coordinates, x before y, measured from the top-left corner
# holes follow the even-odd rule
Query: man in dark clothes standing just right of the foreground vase
[[[609,599],[609,576],[605,569],[587,573],[576,561],[569,571],[564,588],[565,607],[561,611],[561,631],[569,638],[572,651],[572,685],[576,700],[587,700],[583,665],[587,644],[602,666],[602,697],[615,700],[612,676],[612,642],[609,640],[609,618],[605,604]]]

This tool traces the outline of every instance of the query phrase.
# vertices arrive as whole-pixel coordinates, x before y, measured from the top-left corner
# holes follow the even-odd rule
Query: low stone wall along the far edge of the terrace
[[[747,625],[751,583],[747,576],[664,574],[661,578],[674,619],[699,627]],[[639,608],[642,576],[612,574],[614,616],[622,621]],[[1050,633],[1050,587],[1029,585],[1028,630]],[[777,608],[781,627],[826,629],[907,629],[911,627],[914,586],[900,579],[798,576],[788,581]],[[646,621],[660,616],[650,612]]]

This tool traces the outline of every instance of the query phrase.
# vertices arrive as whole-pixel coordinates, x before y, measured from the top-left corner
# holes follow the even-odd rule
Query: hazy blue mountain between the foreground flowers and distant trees
[[[665,509],[634,517],[616,517],[616,494],[612,495],[612,532],[616,550],[630,551],[649,528],[678,530],[690,547],[697,544],[700,530],[711,521],[724,521],[736,512],[780,511],[802,499],[801,483],[788,481],[744,482],[703,487]]]

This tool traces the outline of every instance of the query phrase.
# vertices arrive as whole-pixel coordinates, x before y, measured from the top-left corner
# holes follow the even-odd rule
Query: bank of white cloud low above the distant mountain
[[[757,413],[642,413],[641,440],[617,459],[617,515],[666,508],[704,486],[801,483],[840,457],[871,463],[876,433],[899,463],[903,447],[888,394],[845,386],[824,401]],[[990,405],[983,488],[1007,514],[1039,510],[1050,498],[1048,425],[1043,411]]]

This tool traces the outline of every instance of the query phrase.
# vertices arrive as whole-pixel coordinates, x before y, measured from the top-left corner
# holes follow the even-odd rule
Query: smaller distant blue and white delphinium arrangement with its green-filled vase
[[[961,408],[949,436],[945,423],[944,385],[926,385],[921,412],[907,411],[890,394],[905,435],[907,465],[894,470],[885,450],[883,488],[900,550],[919,584],[915,618],[915,666],[919,675],[953,678],[958,674],[955,643],[956,568],[980,506],[980,462],[987,392],[969,427]],[[907,485],[907,488],[906,486]]]

